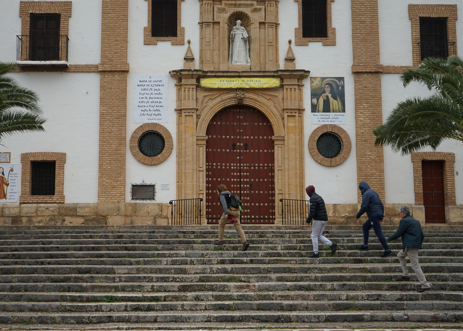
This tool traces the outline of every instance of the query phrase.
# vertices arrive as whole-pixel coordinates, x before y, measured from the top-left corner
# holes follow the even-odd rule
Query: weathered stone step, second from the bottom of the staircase
[[[0,313],[0,323],[13,324],[96,324],[96,323],[204,323],[204,322],[250,322],[250,323],[309,323],[309,322],[370,322],[370,321],[414,321],[414,322],[461,322],[463,312],[458,311],[345,311],[345,312],[272,312],[272,311],[208,311],[178,312],[92,312],[92,313],[47,313],[16,312]]]

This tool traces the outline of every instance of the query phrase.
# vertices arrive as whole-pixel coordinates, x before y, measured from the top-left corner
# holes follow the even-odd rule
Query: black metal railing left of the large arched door
[[[172,225],[201,224],[201,202],[202,197],[194,199],[170,200]]]

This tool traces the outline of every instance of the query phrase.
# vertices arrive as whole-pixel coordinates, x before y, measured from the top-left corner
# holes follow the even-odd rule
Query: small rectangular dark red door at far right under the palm
[[[445,223],[444,162],[422,161],[426,223]]]

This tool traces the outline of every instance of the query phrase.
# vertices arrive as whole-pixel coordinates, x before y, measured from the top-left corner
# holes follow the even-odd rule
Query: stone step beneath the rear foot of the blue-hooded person
[[[382,252],[377,252],[376,257],[338,257],[326,255],[319,258],[308,257],[185,257],[185,258],[128,258],[128,255],[119,258],[106,259],[36,259],[36,260],[7,260],[1,259],[0,266],[50,266],[50,265],[75,265],[75,266],[178,266],[178,265],[221,265],[221,264],[365,264],[365,263],[398,263],[396,257],[382,258]],[[463,257],[455,256],[420,256],[420,263],[462,263]]]

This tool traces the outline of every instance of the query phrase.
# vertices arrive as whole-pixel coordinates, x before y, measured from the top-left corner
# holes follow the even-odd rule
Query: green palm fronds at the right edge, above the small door
[[[445,139],[463,142],[462,58],[426,58],[417,69],[403,71],[400,80],[404,87],[418,82],[436,93],[399,102],[373,129],[375,146],[389,145],[407,155],[426,146],[435,150]]]

